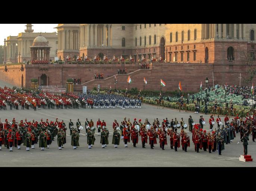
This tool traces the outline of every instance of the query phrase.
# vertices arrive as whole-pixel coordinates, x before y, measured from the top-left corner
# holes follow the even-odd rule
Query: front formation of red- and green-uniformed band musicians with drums
[[[252,134],[252,141],[255,142],[256,138],[256,117],[248,116],[246,118],[235,117],[230,120],[228,116],[225,117],[224,122],[225,125],[221,122],[221,118],[218,116],[216,119],[216,123],[218,124],[215,130],[212,130],[212,126],[215,126],[213,117],[210,117],[210,131],[206,132],[203,128],[205,128],[205,120],[203,116],[200,116],[199,123],[194,123],[192,117],[188,119],[189,131],[192,133],[191,141],[194,143],[195,152],[199,153],[200,150],[208,151],[209,153],[215,152],[218,150],[219,155],[222,155],[222,150],[225,149],[225,145],[232,143],[236,134],[240,133],[240,142],[243,142],[244,146],[244,155],[247,155],[247,145],[249,140],[250,133]],[[71,135],[71,145],[73,149],[77,149],[79,147],[79,133],[84,129],[82,127],[79,119],[77,121],[76,127],[74,127],[74,123],[72,120],[69,122],[69,130]],[[113,122],[113,136],[112,136],[112,144],[114,148],[118,148],[120,145],[120,140],[124,140],[124,147],[128,147],[128,143],[132,143],[132,146],[136,148],[139,136],[141,136],[141,145],[142,148],[146,148],[146,143],[148,143],[150,149],[154,149],[157,144],[157,138],[159,139],[159,146],[162,150],[165,149],[165,145],[168,145],[167,136],[169,136],[170,149],[174,149],[178,151],[181,147],[182,151],[187,152],[187,148],[190,147],[190,136],[188,136],[186,129],[187,124],[185,124],[184,120],[181,119],[178,122],[177,118],[175,120],[163,119],[162,124],[160,124],[159,120],[154,119],[153,123],[150,124],[149,120],[146,119],[144,124],[141,123],[141,119],[134,119],[133,122],[130,122],[130,119],[124,118],[121,122],[121,125],[114,120]],[[87,136],[87,144],[88,148],[91,149],[96,142],[96,137],[94,136],[95,131],[98,131],[98,136],[100,136],[100,144],[102,148],[106,148],[109,144],[109,129],[107,129],[107,124],[100,119],[94,126],[94,122],[91,119],[85,120],[85,130]],[[180,133],[177,132],[178,129],[181,129]],[[58,119],[56,121],[48,121],[38,123],[35,120],[32,122],[25,119],[20,121],[20,123],[16,122],[15,118],[13,118],[12,123],[5,120],[5,123],[1,123],[0,120],[0,150],[2,144],[10,150],[13,151],[13,147],[21,149],[21,145],[26,146],[26,150],[29,151],[31,149],[35,149],[35,144],[38,143],[38,147],[41,150],[49,149],[51,143],[54,141],[54,138],[57,136],[57,145],[58,149],[62,150],[64,145],[66,144],[66,124],[63,122],[59,122]]]

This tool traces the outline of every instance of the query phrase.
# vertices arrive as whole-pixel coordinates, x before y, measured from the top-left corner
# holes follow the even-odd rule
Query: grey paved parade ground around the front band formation
[[[190,148],[188,152],[182,151],[181,148],[178,149],[178,152],[175,152],[174,149],[170,149],[170,141],[168,136],[168,145],[165,146],[165,150],[162,150],[159,146],[159,139],[157,138],[157,145],[154,149],[150,149],[150,145],[146,144],[146,149],[143,149],[141,146],[141,137],[139,137],[137,148],[132,146],[132,143],[128,143],[128,148],[124,147],[124,142],[121,139],[120,145],[118,148],[114,148],[112,143],[113,128],[112,124],[114,119],[121,124],[121,121],[124,120],[124,117],[130,118],[130,121],[133,122],[134,118],[142,119],[141,122],[145,122],[145,119],[148,118],[149,122],[152,124],[155,118],[158,118],[160,123],[162,120],[168,117],[169,122],[171,119],[177,117],[177,120],[180,121],[183,117],[186,124],[188,124],[188,117],[192,116],[195,123],[199,123],[200,114],[189,113],[185,111],[171,110],[171,109],[157,109],[154,106],[149,106],[143,104],[141,109],[55,109],[55,110],[38,110],[33,111],[29,110],[15,110],[12,111],[7,108],[6,111],[0,111],[1,122],[4,122],[5,119],[12,121],[15,117],[16,122],[20,120],[37,120],[40,122],[40,119],[43,118],[43,121],[46,119],[53,120],[55,122],[56,118],[59,121],[64,120],[68,128],[69,119],[72,119],[72,122],[75,124],[77,119],[84,126],[85,119],[93,119],[94,125],[96,125],[97,119],[105,120],[107,128],[109,129],[109,145],[106,148],[102,148],[100,144],[100,136],[97,136],[97,130],[95,132],[95,145],[92,149],[88,149],[87,145],[87,136],[85,136],[85,129],[81,131],[81,136],[79,138],[79,147],[78,149],[73,149],[71,146],[71,136],[69,134],[69,128],[67,130],[67,143],[64,145],[65,148],[58,150],[57,146],[57,137],[55,141],[50,145],[50,149],[45,149],[41,151],[38,148],[38,144],[35,144],[35,149],[26,151],[25,146],[21,146],[21,150],[13,147],[13,152],[9,152],[9,149],[6,149],[2,145],[2,150],[0,150],[0,166],[256,166],[256,162],[241,162],[238,157],[243,154],[243,145],[237,142],[240,140],[240,134],[233,140],[231,144],[225,145],[225,150],[222,150],[222,155],[218,155],[218,150],[213,153],[208,153],[208,151],[200,150],[200,153],[194,151],[194,144],[192,142],[192,134],[188,132],[190,136]],[[206,130],[209,130],[209,115],[203,114],[203,118],[206,121]],[[216,120],[216,116],[215,116]],[[224,121],[224,117],[221,117],[221,120]],[[215,129],[215,126],[213,127]],[[178,133],[180,129],[178,129]],[[252,158],[255,159],[256,155],[256,142],[252,142],[252,135],[249,136],[249,146],[248,146],[248,155],[252,155]]]

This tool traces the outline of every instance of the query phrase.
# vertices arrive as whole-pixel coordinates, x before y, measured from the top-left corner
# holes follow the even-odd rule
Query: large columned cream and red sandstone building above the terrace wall
[[[244,52],[255,54],[256,24],[59,24],[56,28],[63,32],[61,58],[102,53],[146,59],[161,55],[166,62],[241,63]]]

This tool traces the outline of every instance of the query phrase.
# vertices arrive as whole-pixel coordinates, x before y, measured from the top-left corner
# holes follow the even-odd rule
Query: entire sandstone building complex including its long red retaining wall
[[[118,68],[127,68],[127,75],[116,75],[117,88],[125,89],[130,75],[130,88],[143,88],[145,77],[145,89],[159,89],[162,78],[165,90],[177,89],[181,81],[184,91],[196,91],[206,77],[210,85],[239,85],[240,73],[246,75],[245,54],[255,54],[256,24],[58,24],[56,29],[57,33],[41,33],[51,47],[51,59],[102,53],[108,58],[131,55],[135,60],[161,56],[165,62],[152,63],[149,70],[136,64],[13,65],[1,67],[0,78],[24,87],[30,87],[31,78],[38,78],[41,85],[65,85],[68,78],[81,78],[82,84],[75,86],[81,91],[83,85],[114,87]],[[24,33],[7,37],[6,62],[31,59],[29,47],[39,35],[27,24]],[[95,80],[97,72],[105,79]]]

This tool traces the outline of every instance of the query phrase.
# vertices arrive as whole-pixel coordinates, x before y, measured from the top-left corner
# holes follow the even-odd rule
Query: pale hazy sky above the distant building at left
[[[25,32],[26,24],[0,24],[0,45],[4,45],[4,38],[7,36],[18,36],[19,33]],[[58,24],[32,24],[34,32],[57,32],[54,29]]]

